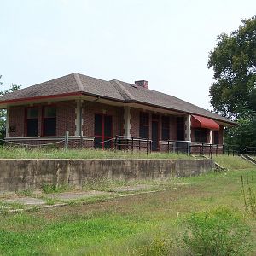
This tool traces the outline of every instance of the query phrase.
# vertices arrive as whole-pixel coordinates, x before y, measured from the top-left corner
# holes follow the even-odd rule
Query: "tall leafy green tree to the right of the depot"
[[[210,103],[216,113],[238,119],[244,109],[256,111],[256,16],[217,37],[208,67],[215,80],[210,87]]]

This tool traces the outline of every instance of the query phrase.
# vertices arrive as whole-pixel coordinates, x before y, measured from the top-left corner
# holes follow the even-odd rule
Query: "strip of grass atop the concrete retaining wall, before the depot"
[[[191,159],[187,154],[151,153],[96,149],[0,148],[2,159]]]

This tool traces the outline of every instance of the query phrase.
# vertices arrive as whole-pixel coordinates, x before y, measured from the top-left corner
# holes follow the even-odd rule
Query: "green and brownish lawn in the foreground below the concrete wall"
[[[176,178],[162,181],[170,188],[162,192],[35,212],[5,212],[0,222],[0,254],[146,255],[168,244],[171,255],[187,255],[181,239],[183,218],[219,206],[241,212],[255,241],[256,220],[245,212],[240,191],[241,175],[255,176],[255,172],[254,167]],[[255,254],[253,244],[249,255]]]

